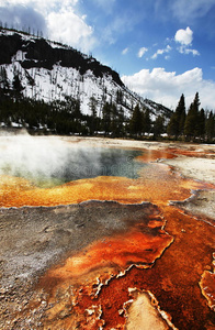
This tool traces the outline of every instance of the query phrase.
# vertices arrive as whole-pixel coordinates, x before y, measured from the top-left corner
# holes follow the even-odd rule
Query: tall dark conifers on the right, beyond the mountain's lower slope
[[[157,140],[161,135],[166,135],[169,140],[213,142],[215,139],[215,114],[212,110],[200,109],[200,105],[199,92],[196,92],[186,111],[184,95],[182,94],[168,123],[167,119],[160,114],[155,121],[151,121],[149,110],[137,105],[129,120],[129,134],[138,139],[151,136],[151,139]]]

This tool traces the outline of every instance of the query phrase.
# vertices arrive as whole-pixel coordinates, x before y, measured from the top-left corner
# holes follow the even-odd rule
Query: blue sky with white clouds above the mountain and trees
[[[0,20],[42,30],[172,109],[196,91],[215,109],[215,0],[0,0]]]

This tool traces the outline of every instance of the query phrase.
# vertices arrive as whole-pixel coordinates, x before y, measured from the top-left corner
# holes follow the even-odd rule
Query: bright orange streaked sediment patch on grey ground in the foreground
[[[151,228],[150,224],[138,223],[126,233],[92,243],[84,251],[67,258],[64,265],[49,270],[42,277],[39,285],[50,287],[52,283],[55,286],[67,282],[82,283],[87,274],[89,276],[98,270],[102,274],[102,268],[109,272],[104,279],[100,276],[100,283],[104,283],[125,272],[131,265],[150,267],[172,242],[172,238],[160,229],[160,221],[157,222],[159,227]]]

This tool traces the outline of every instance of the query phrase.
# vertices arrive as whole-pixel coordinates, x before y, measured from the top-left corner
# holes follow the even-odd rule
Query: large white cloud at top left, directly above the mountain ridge
[[[43,30],[44,36],[89,52],[97,41],[92,26],[86,23],[86,15],[77,12],[78,2],[79,0],[0,0],[0,14],[7,13],[9,24],[15,24],[16,29],[36,25],[34,29]],[[34,23],[36,14],[39,15],[37,21],[43,20],[44,25]],[[0,20],[3,21],[1,18]]]

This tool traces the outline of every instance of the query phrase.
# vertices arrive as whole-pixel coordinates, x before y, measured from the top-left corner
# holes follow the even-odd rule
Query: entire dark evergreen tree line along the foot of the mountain
[[[112,138],[133,138],[157,140],[166,139],[196,142],[213,142],[215,139],[215,114],[200,109],[199,92],[195,94],[189,110],[185,109],[184,95],[181,96],[170,120],[163,114],[151,119],[150,110],[137,103],[131,109],[132,116],[124,114],[123,102],[118,99],[104,102],[98,109],[94,97],[89,101],[89,114],[80,110],[80,100],[67,96],[64,101],[33,100],[23,97],[22,85],[14,76],[13,89],[0,88],[0,123],[10,128],[24,127],[30,132],[53,134],[82,134]],[[7,92],[5,92],[7,90]]]

